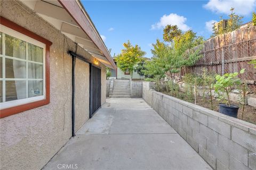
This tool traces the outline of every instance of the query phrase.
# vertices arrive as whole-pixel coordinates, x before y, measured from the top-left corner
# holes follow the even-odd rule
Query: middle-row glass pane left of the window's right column
[[[26,62],[5,58],[5,78],[25,79]]]

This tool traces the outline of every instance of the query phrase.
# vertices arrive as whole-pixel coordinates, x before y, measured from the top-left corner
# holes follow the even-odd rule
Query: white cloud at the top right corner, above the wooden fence
[[[215,13],[230,14],[230,8],[235,8],[239,15],[250,15],[256,7],[256,0],[210,0],[204,7]]]

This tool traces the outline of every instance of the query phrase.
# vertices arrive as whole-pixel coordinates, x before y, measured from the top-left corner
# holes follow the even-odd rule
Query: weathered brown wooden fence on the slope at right
[[[246,27],[213,37],[203,44],[203,57],[194,66],[183,67],[185,73],[201,73],[203,68],[217,74],[234,73],[246,69],[240,78],[249,84],[256,81],[256,69],[251,60],[256,60],[256,27]]]

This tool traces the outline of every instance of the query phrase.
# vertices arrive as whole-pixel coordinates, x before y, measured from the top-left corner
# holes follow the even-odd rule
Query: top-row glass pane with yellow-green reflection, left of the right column
[[[5,35],[5,55],[26,59],[26,42],[9,35]]]

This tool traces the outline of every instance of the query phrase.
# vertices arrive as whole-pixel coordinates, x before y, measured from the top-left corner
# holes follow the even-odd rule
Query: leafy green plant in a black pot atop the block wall
[[[229,93],[233,88],[241,85],[241,79],[237,76],[243,74],[245,69],[242,69],[239,73],[226,73],[224,75],[216,75],[216,82],[214,84],[214,90],[218,94],[218,98],[226,103],[219,104],[219,112],[228,116],[237,117],[239,106],[231,105]]]

